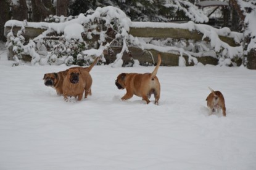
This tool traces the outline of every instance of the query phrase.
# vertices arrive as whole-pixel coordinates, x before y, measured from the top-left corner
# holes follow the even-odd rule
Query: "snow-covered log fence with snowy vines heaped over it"
[[[144,53],[152,50],[168,53],[168,58],[162,60],[162,63],[167,66],[172,65],[168,63],[169,61],[175,60],[173,55],[178,56],[179,60],[184,62],[186,60],[183,58],[188,57],[188,61],[182,64],[186,66],[199,63],[199,58],[203,56],[212,56],[219,61],[220,65],[239,65],[242,57],[242,34],[232,32],[229,28],[216,29],[192,21],[181,24],[132,22],[122,10],[115,7],[99,7],[90,15],[80,14],[77,18],[63,23],[24,23],[10,20],[5,25],[6,33],[10,29],[15,34],[15,26],[43,31],[39,35],[35,34],[34,38],[32,37],[35,42],[40,39],[55,39],[56,37],[52,37],[53,34],[59,36],[61,43],[57,41],[54,44],[49,41],[44,42],[46,45],[49,44],[54,52],[51,52],[44,59],[48,61],[43,63],[55,62],[55,58],[62,56],[64,56],[62,59],[64,61],[65,58],[73,58],[73,55],[76,55],[72,62],[77,64],[78,60],[88,58],[83,55],[83,51],[90,48],[99,50],[102,56],[105,55],[103,51],[112,50],[116,57],[114,65],[118,63],[118,66],[125,62],[120,63],[117,60],[125,60],[123,56],[125,53],[131,53],[129,50],[131,47],[140,48]],[[22,36],[25,39],[31,39],[32,33],[33,31],[26,31],[22,33]],[[30,38],[28,38],[29,36]],[[78,52],[72,52],[78,47],[83,48],[80,48]],[[115,52],[114,47],[120,47],[122,50]],[[131,54],[133,57],[137,57],[135,53]],[[143,57],[138,55],[138,58],[139,61],[142,61]],[[237,61],[239,62],[237,63]],[[178,63],[181,65],[180,63],[183,62],[179,61]]]

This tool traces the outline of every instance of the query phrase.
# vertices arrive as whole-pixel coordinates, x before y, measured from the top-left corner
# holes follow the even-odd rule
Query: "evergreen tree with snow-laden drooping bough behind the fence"
[[[200,9],[186,0],[75,0],[69,7],[70,15],[85,13],[88,9],[96,9],[98,6],[118,7],[132,21],[170,21],[174,18],[186,18],[199,23],[208,21]]]

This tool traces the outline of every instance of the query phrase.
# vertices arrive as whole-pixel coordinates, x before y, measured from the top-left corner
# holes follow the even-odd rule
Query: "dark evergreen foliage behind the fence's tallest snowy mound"
[[[170,18],[186,18],[182,9],[166,4],[161,0],[118,0],[118,1],[89,1],[76,0],[70,4],[70,15],[85,13],[89,9],[97,7],[115,6],[123,10],[132,21],[170,21]]]

